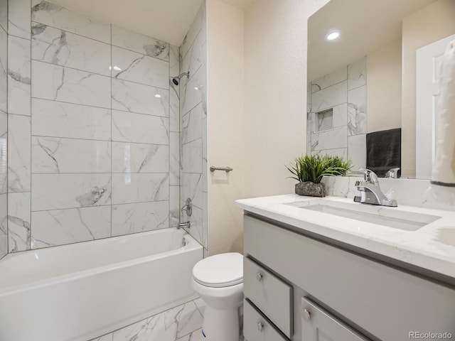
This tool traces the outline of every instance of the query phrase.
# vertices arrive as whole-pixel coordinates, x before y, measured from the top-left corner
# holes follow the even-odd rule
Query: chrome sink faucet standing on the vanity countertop
[[[366,168],[359,168],[359,171],[363,171],[365,174],[365,181],[355,182],[357,189],[360,190],[360,196],[354,197],[355,202],[392,207],[398,206],[397,200],[389,199],[382,193],[379,186],[378,175],[376,175],[375,172]]]

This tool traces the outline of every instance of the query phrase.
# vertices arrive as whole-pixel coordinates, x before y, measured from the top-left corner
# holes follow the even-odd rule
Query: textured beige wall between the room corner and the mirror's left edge
[[[328,0],[261,0],[245,11],[245,196],[293,193],[306,152],[306,29]]]

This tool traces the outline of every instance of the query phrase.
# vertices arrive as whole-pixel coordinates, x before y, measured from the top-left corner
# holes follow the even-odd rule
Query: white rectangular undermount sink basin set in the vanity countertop
[[[421,213],[403,211],[397,207],[383,207],[325,199],[289,202],[286,205],[406,231],[416,231],[440,218],[436,215],[423,215]]]

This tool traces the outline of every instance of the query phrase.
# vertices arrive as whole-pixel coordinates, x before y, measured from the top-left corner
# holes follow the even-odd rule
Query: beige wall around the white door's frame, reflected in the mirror
[[[415,53],[455,33],[455,1],[439,0],[403,20],[402,176],[415,177]]]

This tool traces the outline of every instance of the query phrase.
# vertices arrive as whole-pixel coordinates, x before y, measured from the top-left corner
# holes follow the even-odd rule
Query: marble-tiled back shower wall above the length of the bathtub
[[[9,251],[170,227],[178,48],[47,1],[9,3]]]

